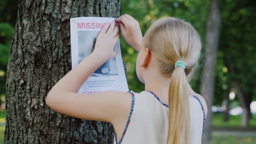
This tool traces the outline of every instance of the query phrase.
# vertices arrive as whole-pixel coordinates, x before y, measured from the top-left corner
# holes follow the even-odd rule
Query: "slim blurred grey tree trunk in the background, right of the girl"
[[[212,0],[210,6],[210,14],[207,20],[206,30],[206,53],[205,64],[202,71],[201,95],[207,103],[207,117],[205,121],[205,131],[202,137],[204,143],[210,143],[211,140],[211,124],[212,124],[212,103],[214,94],[214,71],[217,49],[219,44],[219,26],[220,26],[220,9],[218,0]]]

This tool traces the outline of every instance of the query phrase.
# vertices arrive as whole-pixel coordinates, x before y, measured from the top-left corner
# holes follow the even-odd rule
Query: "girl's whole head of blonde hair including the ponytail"
[[[154,22],[143,37],[159,61],[159,71],[170,78],[167,144],[190,143],[189,81],[195,73],[201,53],[201,40],[190,23],[174,17]],[[187,67],[175,68],[177,61]]]

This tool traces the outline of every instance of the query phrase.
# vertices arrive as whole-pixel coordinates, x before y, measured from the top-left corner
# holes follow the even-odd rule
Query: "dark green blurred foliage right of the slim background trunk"
[[[220,28],[219,51],[216,64],[216,98],[223,100],[226,86],[238,81],[242,91],[253,95],[256,89],[256,8],[252,1],[221,1],[222,26]]]

